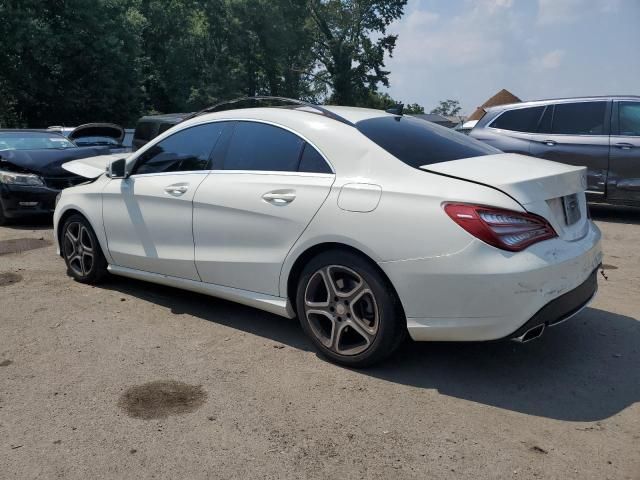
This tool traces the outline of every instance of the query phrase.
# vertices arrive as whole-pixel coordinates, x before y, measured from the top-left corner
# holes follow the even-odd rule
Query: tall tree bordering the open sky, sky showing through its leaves
[[[316,81],[341,105],[366,103],[378,84],[389,85],[384,56],[391,55],[397,35],[387,34],[402,16],[406,0],[309,0],[314,26]]]

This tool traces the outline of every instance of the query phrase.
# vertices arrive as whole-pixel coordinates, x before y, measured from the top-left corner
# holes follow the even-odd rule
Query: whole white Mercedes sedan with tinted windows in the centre
[[[407,333],[527,341],[595,295],[584,168],[505,154],[401,109],[288,103],[200,112],[106,172],[67,165],[95,177],[58,199],[69,274],[297,316],[349,366]]]

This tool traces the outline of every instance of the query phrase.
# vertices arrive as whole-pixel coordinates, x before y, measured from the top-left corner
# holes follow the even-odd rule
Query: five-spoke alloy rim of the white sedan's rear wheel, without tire
[[[325,266],[311,275],[304,308],[313,335],[339,355],[364,352],[378,333],[375,295],[360,274],[345,266]]]

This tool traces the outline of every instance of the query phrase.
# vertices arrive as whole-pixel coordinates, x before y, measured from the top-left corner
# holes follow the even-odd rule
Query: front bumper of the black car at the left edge
[[[0,184],[0,202],[7,218],[51,215],[59,192],[47,187]]]

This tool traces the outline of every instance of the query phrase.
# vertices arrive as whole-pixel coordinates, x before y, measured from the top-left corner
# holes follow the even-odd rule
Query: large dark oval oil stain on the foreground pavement
[[[151,420],[190,413],[207,400],[200,385],[174,380],[156,381],[127,389],[118,402],[130,417]]]

